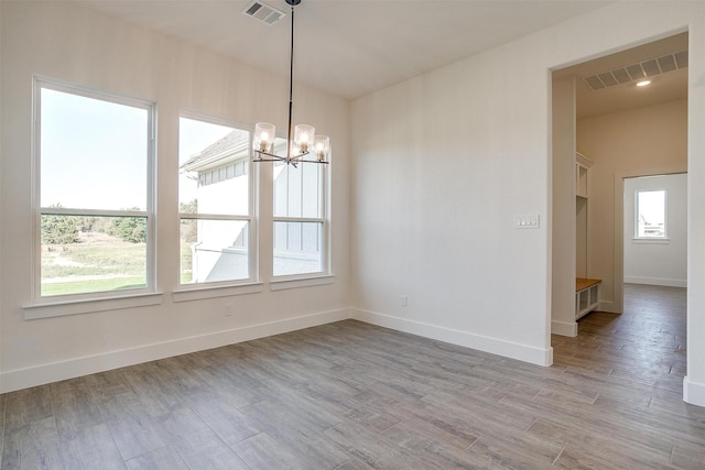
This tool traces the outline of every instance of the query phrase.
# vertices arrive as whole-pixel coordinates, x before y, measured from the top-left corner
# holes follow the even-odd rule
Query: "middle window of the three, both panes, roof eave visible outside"
[[[180,119],[181,284],[253,277],[250,132]]]

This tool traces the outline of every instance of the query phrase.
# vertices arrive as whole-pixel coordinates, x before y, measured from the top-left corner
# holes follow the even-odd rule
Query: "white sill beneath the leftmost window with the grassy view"
[[[43,300],[23,305],[25,320],[62,317],[66,315],[91,314],[96,311],[119,310],[123,308],[145,307],[162,303],[163,294],[131,294],[90,299]]]

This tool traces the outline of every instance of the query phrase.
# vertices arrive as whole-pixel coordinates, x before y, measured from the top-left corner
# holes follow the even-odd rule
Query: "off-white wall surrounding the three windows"
[[[174,302],[178,282],[180,109],[252,124],[286,122],[288,78],[122,23],[72,2],[0,2],[2,168],[0,391],[210,348],[349,316],[349,102],[297,86],[296,113],[333,142],[330,214],[335,280],[248,295],[200,293]],[[158,287],[161,304],[25,320],[32,298],[32,74],[158,102]],[[271,87],[270,87],[271,86]],[[263,90],[276,90],[274,96]],[[325,125],[324,125],[325,123]],[[271,178],[271,168],[262,170]],[[271,216],[271,195],[262,212]],[[272,234],[260,227],[264,281]],[[256,288],[256,291],[257,291]],[[225,296],[224,296],[225,295]],[[196,296],[198,297],[198,296]],[[226,305],[235,315],[225,317]],[[127,304],[126,304],[127,306]]]

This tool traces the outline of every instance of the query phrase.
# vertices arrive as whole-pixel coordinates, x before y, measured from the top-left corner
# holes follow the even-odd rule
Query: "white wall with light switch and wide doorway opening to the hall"
[[[355,315],[551,363],[550,70],[685,29],[688,175],[698,182],[705,177],[703,3],[614,3],[356,100]],[[691,200],[701,193],[691,184]],[[541,227],[514,229],[521,214],[538,214]],[[692,208],[691,240],[702,232],[705,209]],[[690,282],[705,282],[705,248],[691,243],[690,253]],[[705,294],[690,295],[688,316],[685,395],[705,404]]]

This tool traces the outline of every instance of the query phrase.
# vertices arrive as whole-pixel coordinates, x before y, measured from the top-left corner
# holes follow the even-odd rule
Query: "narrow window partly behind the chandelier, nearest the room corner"
[[[324,165],[274,164],[274,276],[327,271]]]

